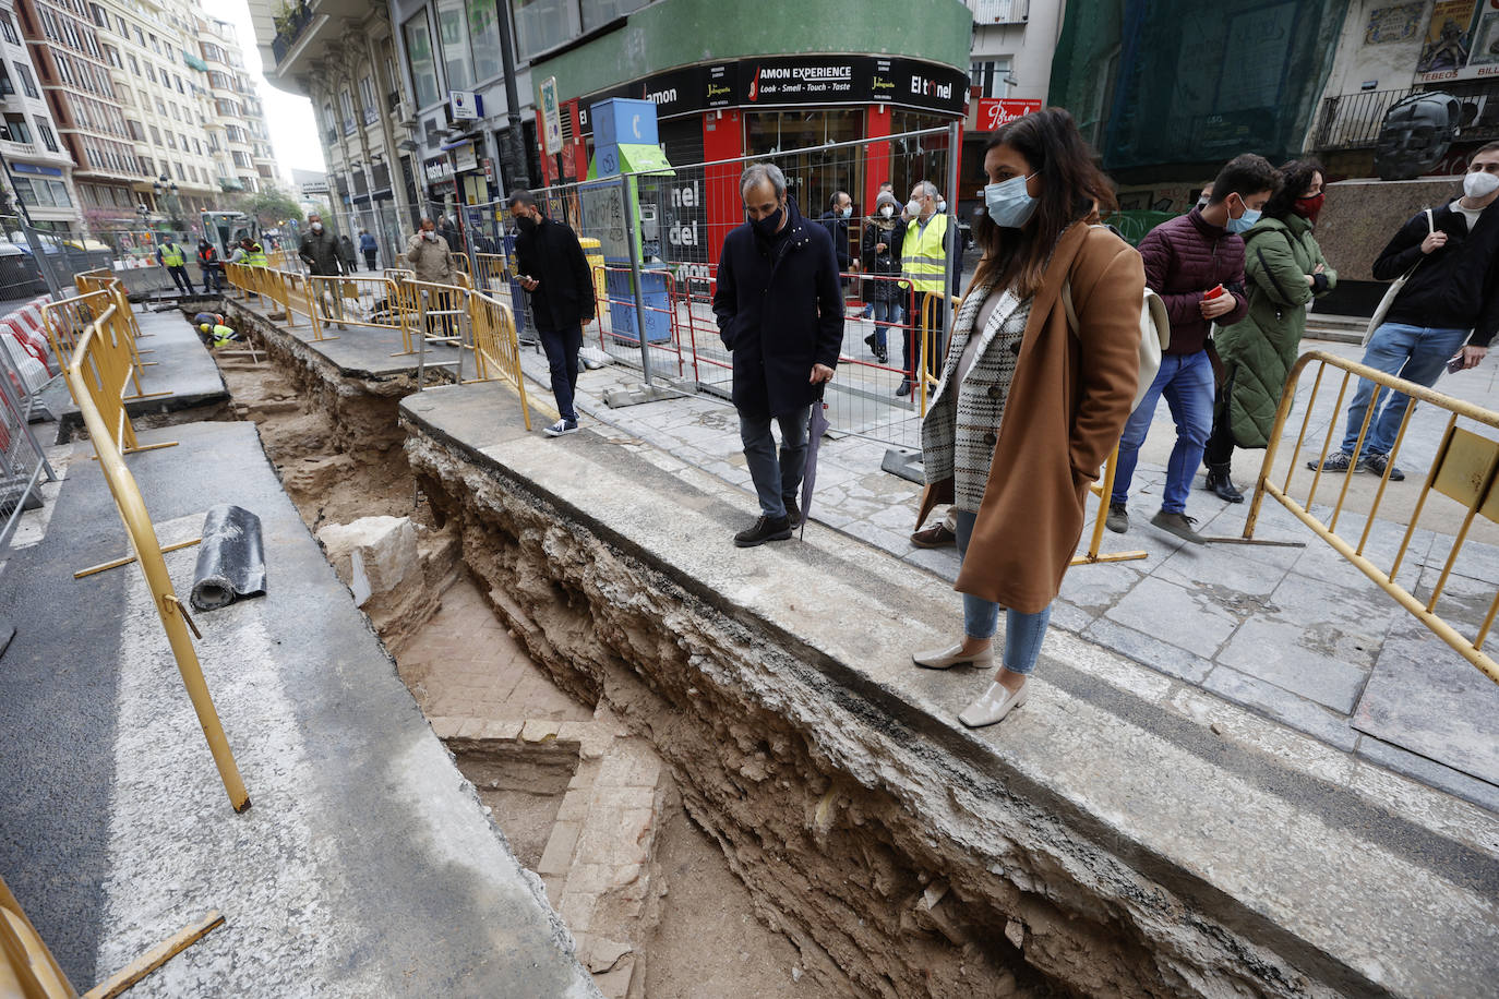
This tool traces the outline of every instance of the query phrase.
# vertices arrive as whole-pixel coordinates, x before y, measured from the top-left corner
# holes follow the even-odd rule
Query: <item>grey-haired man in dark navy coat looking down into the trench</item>
[[[751,163],[739,178],[748,222],[724,238],[714,315],[735,355],[735,407],[760,520],[735,535],[741,548],[784,541],[802,514],[806,422],[842,347],[842,291],[827,229],[802,219],[785,175]],[[781,424],[776,458],[770,422]]]

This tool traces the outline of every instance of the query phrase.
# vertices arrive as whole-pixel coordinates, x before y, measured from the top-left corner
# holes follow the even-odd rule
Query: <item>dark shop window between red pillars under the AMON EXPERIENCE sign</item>
[[[764,156],[781,168],[787,190],[808,219],[826,211],[838,190],[853,198],[856,216],[863,211],[859,204],[863,150],[856,145],[817,148],[860,138],[863,111],[859,108],[745,112],[745,153]]]

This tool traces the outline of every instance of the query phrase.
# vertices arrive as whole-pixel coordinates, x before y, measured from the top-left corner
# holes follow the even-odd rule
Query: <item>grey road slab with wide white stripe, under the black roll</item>
[[[132,995],[594,996],[265,460],[252,424],[142,433],[163,544],[207,508],[261,517],[270,592],[198,614],[198,655],[253,807],[234,815],[87,445],[0,614],[0,870],[76,984],[210,909],[225,926]],[[195,550],[166,556],[178,593]]]

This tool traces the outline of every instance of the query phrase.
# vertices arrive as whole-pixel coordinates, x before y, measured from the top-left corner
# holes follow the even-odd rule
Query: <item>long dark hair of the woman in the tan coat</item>
[[[983,259],[973,276],[977,286],[991,276],[1016,297],[1034,295],[1042,271],[1063,231],[1075,222],[1096,222],[1099,211],[1117,207],[1114,184],[1099,169],[1072,115],[1046,108],[1015,118],[994,133],[983,154],[1009,145],[1042,177],[1036,214],[1021,229],[997,226],[985,213],[973,226]]]

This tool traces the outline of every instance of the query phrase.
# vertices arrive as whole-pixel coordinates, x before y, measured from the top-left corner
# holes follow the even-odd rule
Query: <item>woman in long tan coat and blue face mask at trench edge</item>
[[[992,665],[1000,608],[1004,658],[959,720],[992,725],[1028,698],[1051,602],[1072,562],[1088,484],[1118,442],[1139,374],[1145,270],[1097,222],[1108,178],[1072,115],[1028,114],[983,156],[983,259],[953,322],[941,385],[922,422],[926,491],[917,517],[952,502],[958,518],[964,638],[916,665]],[[1078,316],[1063,306],[1069,286]]]

